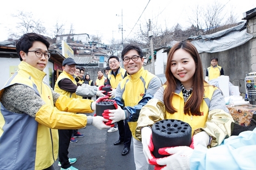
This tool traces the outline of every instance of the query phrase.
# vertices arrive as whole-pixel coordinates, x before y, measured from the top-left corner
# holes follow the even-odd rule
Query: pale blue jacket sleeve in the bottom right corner
[[[253,170],[256,167],[256,128],[224,139],[221,145],[207,149],[195,147],[190,170]]]

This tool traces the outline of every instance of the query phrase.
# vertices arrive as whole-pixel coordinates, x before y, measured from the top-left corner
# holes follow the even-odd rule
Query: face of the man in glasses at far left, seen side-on
[[[31,48],[28,49],[28,51],[34,51],[38,50],[44,53],[48,53],[47,47],[43,42],[35,41],[33,42],[33,45]],[[35,52],[27,52],[27,54],[23,51],[20,52],[21,58],[23,62],[27,62],[32,67],[37,68],[38,70],[43,71],[43,69],[46,67],[48,63],[48,59],[42,55],[42,57],[37,57]]]

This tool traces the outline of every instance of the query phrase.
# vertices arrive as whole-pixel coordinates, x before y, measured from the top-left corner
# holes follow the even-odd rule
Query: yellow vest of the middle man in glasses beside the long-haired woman
[[[124,106],[133,107],[137,105],[142,99],[144,93],[146,93],[149,82],[153,77],[155,77],[155,75],[144,70],[144,67],[141,67],[139,72],[133,75],[127,75],[127,77],[120,82]],[[135,129],[137,122],[128,122],[128,124],[133,137],[136,138]]]

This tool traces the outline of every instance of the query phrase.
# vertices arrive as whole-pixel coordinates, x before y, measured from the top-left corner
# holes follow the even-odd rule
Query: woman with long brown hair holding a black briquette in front
[[[203,80],[200,56],[190,42],[181,41],[171,48],[166,68],[167,81],[141,109],[136,128],[147,160],[158,170],[169,170],[172,163],[154,159],[152,154],[151,127],[156,122],[177,119],[188,123],[192,128],[192,148],[198,144],[218,146],[231,135],[234,123],[219,88]]]

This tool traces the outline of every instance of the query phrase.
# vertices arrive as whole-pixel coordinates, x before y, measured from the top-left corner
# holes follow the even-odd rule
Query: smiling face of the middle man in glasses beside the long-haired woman
[[[134,56],[139,56],[139,53],[136,50],[130,50],[126,54],[124,54],[123,59],[132,58]],[[143,57],[139,57],[137,61],[133,61],[132,59],[130,59],[129,62],[123,62],[123,67],[130,75],[132,75],[139,72],[140,68],[143,66],[143,62]]]

